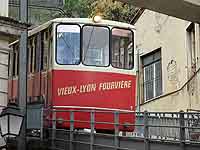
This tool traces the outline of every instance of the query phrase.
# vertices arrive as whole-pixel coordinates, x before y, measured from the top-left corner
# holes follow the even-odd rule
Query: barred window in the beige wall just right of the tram
[[[142,57],[144,101],[162,94],[161,49]]]

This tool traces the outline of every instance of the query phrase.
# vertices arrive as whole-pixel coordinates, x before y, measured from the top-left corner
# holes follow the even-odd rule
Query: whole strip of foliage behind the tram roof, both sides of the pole
[[[10,8],[10,16],[18,19],[18,9]],[[69,18],[88,18],[101,15],[103,19],[130,22],[136,8],[113,0],[65,0],[62,9],[65,17]],[[31,24],[42,24],[59,17],[64,17],[64,15],[56,10],[29,8],[29,23]]]

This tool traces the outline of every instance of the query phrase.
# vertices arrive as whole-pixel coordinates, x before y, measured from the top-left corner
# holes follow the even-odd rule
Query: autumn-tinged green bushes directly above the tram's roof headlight
[[[130,22],[135,7],[113,0],[66,0],[64,11],[68,17],[93,17]]]

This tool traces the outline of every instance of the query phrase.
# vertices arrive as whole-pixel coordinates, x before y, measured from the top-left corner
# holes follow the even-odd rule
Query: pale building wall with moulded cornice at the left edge
[[[11,51],[9,43],[17,40],[24,28],[24,24],[0,16],[0,106],[5,106],[8,102],[8,61]]]

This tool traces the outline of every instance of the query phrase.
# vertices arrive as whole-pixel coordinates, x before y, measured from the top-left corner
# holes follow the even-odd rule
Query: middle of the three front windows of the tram
[[[109,65],[109,29],[107,27],[83,27],[83,58],[85,65]]]

